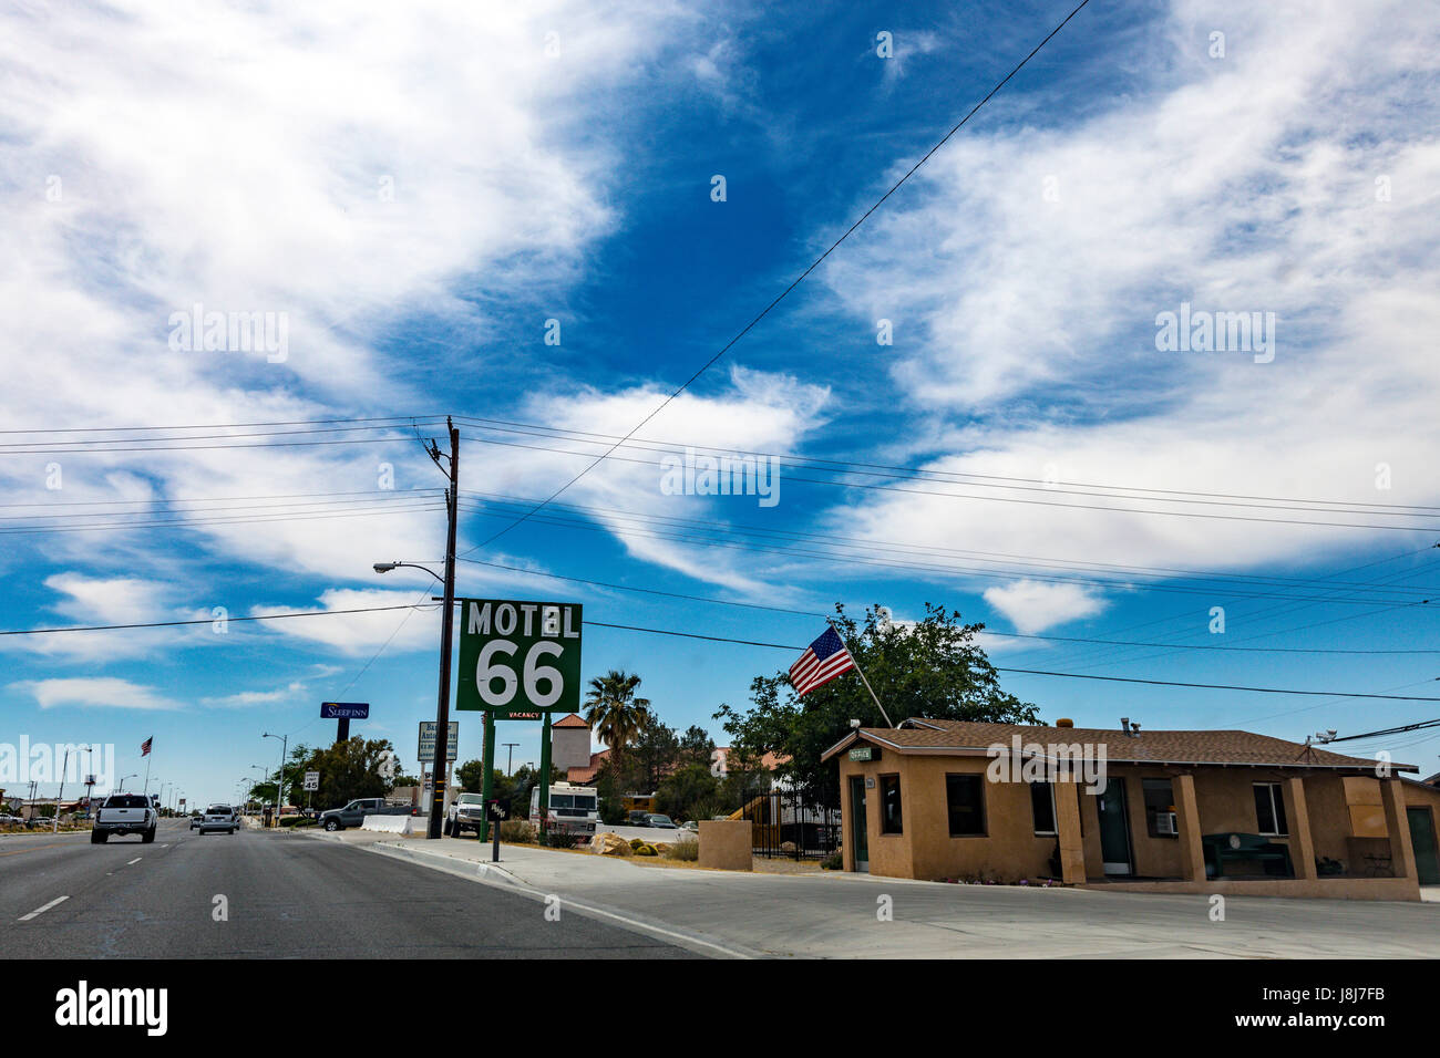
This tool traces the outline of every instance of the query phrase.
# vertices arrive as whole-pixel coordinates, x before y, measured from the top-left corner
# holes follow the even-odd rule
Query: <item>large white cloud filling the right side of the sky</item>
[[[1212,27],[1225,59],[1207,55]],[[847,304],[896,321],[894,377],[930,419],[910,432],[917,462],[1060,489],[1436,504],[1440,26],[1403,3],[1181,1],[1162,43],[1152,83],[1096,117],[968,128],[837,255],[827,276]],[[1273,363],[1158,351],[1155,317],[1181,301],[1274,312]],[[877,494],[831,521],[992,554],[1238,570],[1411,540],[1044,505],[1175,510],[1153,497],[946,488],[972,498]]]

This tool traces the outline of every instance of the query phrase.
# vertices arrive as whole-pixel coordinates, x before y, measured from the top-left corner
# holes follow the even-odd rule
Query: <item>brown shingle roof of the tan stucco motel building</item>
[[[975,724],[958,720],[912,718],[899,728],[861,727],[825,750],[821,760],[829,760],[855,738],[887,746],[897,753],[946,753],[960,756],[984,754],[991,746],[1009,746],[1018,736],[1022,743],[1041,746],[1060,743],[1071,746],[1104,746],[1112,763],[1169,763],[1169,764],[1270,764],[1287,767],[1374,769],[1365,757],[1346,757],[1329,750],[1306,747],[1300,743],[1272,738],[1251,731],[1123,731],[1097,727],[1048,727],[1045,724]],[[1418,772],[1414,764],[1395,764],[1397,772]]]

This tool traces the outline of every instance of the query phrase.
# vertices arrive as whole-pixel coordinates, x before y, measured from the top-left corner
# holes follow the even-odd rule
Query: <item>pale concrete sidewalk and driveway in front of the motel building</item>
[[[1211,921],[1201,895],[945,885],[897,878],[664,869],[474,838],[317,833],[537,898],[714,946],[714,953],[818,959],[1434,957],[1440,905],[1231,897]],[[484,872],[484,875],[481,874]],[[888,898],[888,900],[886,900]],[[891,920],[877,911],[888,903]]]

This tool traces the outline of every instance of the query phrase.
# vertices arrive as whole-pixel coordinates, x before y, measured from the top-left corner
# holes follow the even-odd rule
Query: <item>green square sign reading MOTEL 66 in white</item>
[[[464,599],[455,708],[539,720],[580,708],[580,605]]]

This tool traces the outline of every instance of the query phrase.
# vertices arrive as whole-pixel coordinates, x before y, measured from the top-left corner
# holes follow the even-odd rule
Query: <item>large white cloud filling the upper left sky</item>
[[[6,9],[0,419],[132,426],[422,406],[405,354],[377,347],[415,315],[482,327],[477,304],[577,273],[618,222],[616,148],[590,127],[681,30],[694,35],[693,20],[664,1],[212,0],[183,19],[137,0]],[[170,315],[194,304],[287,314],[288,357],[173,351]],[[63,491],[45,487],[50,458]],[[0,488],[40,502],[374,489],[380,461],[395,462],[397,488],[435,484],[410,440],[42,453],[6,461]],[[334,580],[369,576],[384,554],[436,551],[441,523],[412,511],[194,531],[222,557]],[[154,540],[173,535],[196,538],[12,540],[59,561],[156,566]]]

